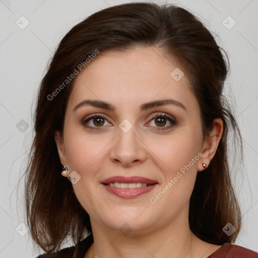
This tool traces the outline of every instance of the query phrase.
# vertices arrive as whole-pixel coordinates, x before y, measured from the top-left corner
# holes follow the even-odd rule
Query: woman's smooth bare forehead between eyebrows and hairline
[[[99,53],[75,80],[69,99],[71,107],[84,99],[100,99],[117,105],[134,105],[173,98],[196,102],[186,75],[157,48]],[[172,73],[172,76],[171,76]],[[179,78],[180,78],[179,77]],[[195,103],[197,104],[197,103]]]

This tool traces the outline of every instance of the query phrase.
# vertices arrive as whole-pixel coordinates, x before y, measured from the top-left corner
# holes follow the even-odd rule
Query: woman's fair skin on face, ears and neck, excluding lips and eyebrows
[[[190,231],[188,207],[197,171],[214,157],[223,122],[215,119],[203,141],[199,105],[186,75],[179,81],[170,76],[176,67],[160,49],[136,48],[100,53],[76,78],[63,132],[55,132],[55,142],[62,165],[81,176],[73,187],[90,216],[94,236],[84,257],[208,257],[220,247]],[[166,98],[181,102],[186,111],[176,105],[139,111],[145,102]],[[116,110],[82,106],[74,111],[85,99],[110,102]],[[177,124],[165,120],[160,125],[151,119],[159,113],[176,118]],[[105,117],[100,130],[83,125],[91,114]],[[127,133],[119,127],[124,119],[132,124]],[[96,119],[87,125],[100,127]],[[155,131],[162,126],[168,129]],[[202,157],[152,204],[150,199],[198,153]],[[148,177],[158,185],[140,197],[122,199],[100,183],[115,175]],[[127,235],[119,230],[124,223],[132,229]]]

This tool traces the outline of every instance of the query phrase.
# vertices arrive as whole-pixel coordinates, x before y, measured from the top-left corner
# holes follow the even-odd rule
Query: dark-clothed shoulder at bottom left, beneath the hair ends
[[[84,254],[89,249],[92,243],[93,235],[90,234],[79,243],[77,243],[76,246],[67,247],[54,253],[44,253],[37,256],[36,258],[81,258],[84,257]]]

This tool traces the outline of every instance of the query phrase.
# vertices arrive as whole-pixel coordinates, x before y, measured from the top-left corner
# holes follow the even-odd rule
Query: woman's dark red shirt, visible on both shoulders
[[[84,258],[92,243],[91,234],[76,246],[61,249],[54,254],[41,254],[36,258]],[[258,258],[258,253],[236,244],[225,243],[207,258]]]

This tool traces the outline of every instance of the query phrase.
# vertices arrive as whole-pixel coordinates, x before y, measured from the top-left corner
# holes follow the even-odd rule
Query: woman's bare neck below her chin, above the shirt
[[[151,230],[148,228],[145,232],[132,230],[127,235],[92,219],[91,223],[94,243],[85,257],[194,258],[207,257],[205,253],[211,249],[211,246],[201,247],[203,241],[190,231],[188,218],[159,226],[158,229],[152,226]]]

